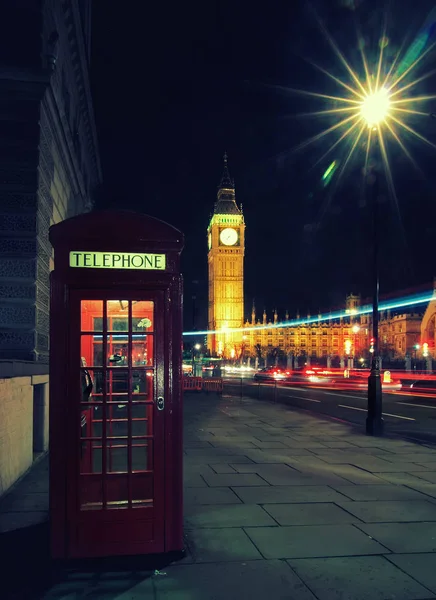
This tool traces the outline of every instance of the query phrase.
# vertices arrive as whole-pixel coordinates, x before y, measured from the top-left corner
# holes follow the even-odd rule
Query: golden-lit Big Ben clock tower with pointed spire
[[[208,349],[214,356],[238,358],[244,323],[244,242],[242,206],[235,201],[227,154],[217,201],[207,228],[209,265]],[[237,329],[238,331],[232,331]]]

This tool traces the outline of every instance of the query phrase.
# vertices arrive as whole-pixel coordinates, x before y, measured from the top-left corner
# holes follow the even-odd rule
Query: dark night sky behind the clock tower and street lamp
[[[393,10],[378,0],[314,6],[360,72],[357,26],[371,60],[388,16],[389,60],[403,42],[406,48],[413,42],[434,2],[391,4]],[[291,89],[342,95],[310,61],[349,80],[308,6],[305,0],[94,3],[91,77],[104,173],[98,205],[145,212],[185,233],[185,329],[192,325],[193,293],[197,326],[206,324],[206,227],[224,151],[247,225],[247,315],[253,299],[259,312],[277,307],[281,316],[298,308],[314,314],[342,304],[348,292],[370,291],[362,152],[338,188],[336,178],[323,188],[323,172],[334,159],[343,164],[346,144],[317,165],[336,134],[295,150],[338,121],[301,116],[333,105]],[[420,75],[434,58],[430,53],[422,62]],[[413,90],[434,93],[435,79]],[[436,101],[420,110],[436,110]],[[435,120],[408,122],[436,143]],[[398,146],[388,145],[397,200],[379,176],[382,292],[436,275],[436,150],[404,133],[423,174]]]

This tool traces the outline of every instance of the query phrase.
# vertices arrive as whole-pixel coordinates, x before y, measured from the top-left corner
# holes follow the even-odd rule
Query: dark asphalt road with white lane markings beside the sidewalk
[[[365,430],[367,395],[364,390],[333,387],[257,383],[226,379],[225,390],[354,423]],[[385,431],[436,444],[436,397],[401,392],[383,393]]]

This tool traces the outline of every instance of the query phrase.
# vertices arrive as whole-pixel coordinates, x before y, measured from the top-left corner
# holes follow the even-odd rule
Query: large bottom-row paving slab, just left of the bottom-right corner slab
[[[319,600],[435,597],[383,556],[294,559],[288,563]]]

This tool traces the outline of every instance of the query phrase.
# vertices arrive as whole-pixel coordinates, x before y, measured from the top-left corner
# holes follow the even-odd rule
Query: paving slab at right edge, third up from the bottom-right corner
[[[426,500],[338,502],[364,523],[436,521],[436,504]]]

